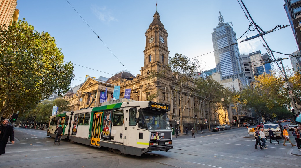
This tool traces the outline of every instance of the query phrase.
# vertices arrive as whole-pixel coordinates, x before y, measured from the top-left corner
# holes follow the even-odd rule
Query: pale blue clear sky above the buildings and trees
[[[283,0],[243,2],[263,31],[289,25]],[[169,57],[178,53],[197,58],[201,70],[216,67],[211,33],[218,26],[219,11],[225,22],[233,24],[237,38],[242,36],[238,42],[256,35],[247,31],[249,20],[237,0],[157,0],[157,6],[156,0],[18,0],[17,9],[19,19],[25,18],[38,32],[48,32],[61,48],[64,61],[74,64],[72,87],[84,82],[86,75],[110,78],[123,70],[140,74],[145,33],[156,10],[168,33]],[[291,54],[297,50],[290,26],[264,38],[273,51]],[[266,53],[262,42],[256,38],[239,43],[240,54]],[[288,58],[274,55],[276,59]],[[290,59],[283,63],[292,68]]]

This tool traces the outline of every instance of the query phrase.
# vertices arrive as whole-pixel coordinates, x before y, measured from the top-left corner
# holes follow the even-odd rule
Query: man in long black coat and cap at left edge
[[[11,136],[11,143],[14,141],[14,127],[8,125],[9,120],[4,119],[3,125],[0,126],[0,155],[5,153],[6,144],[8,142],[8,137]]]

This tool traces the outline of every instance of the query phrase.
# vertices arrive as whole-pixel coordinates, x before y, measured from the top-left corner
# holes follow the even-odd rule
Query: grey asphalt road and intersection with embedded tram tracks
[[[291,145],[268,143],[268,149],[254,149],[255,139],[246,128],[173,137],[174,149],[142,156],[109,152],[106,148],[62,141],[46,131],[15,128],[15,144],[8,144],[0,157],[0,167],[301,167],[300,156],[292,155]],[[294,143],[294,138],[291,137]],[[269,142],[269,140],[268,140]]]

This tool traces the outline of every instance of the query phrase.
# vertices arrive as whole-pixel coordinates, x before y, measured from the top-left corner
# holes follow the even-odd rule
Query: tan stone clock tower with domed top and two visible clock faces
[[[168,33],[160,21],[160,15],[156,11],[154,20],[145,33],[144,66],[141,67],[141,76],[147,76],[151,71],[164,70],[165,75],[170,77],[171,70],[168,65]]]

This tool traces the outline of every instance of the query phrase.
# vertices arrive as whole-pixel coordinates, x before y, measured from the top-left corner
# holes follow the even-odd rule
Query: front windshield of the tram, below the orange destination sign
[[[149,130],[170,130],[170,124],[166,112],[140,109],[139,114],[139,127],[147,128]]]

